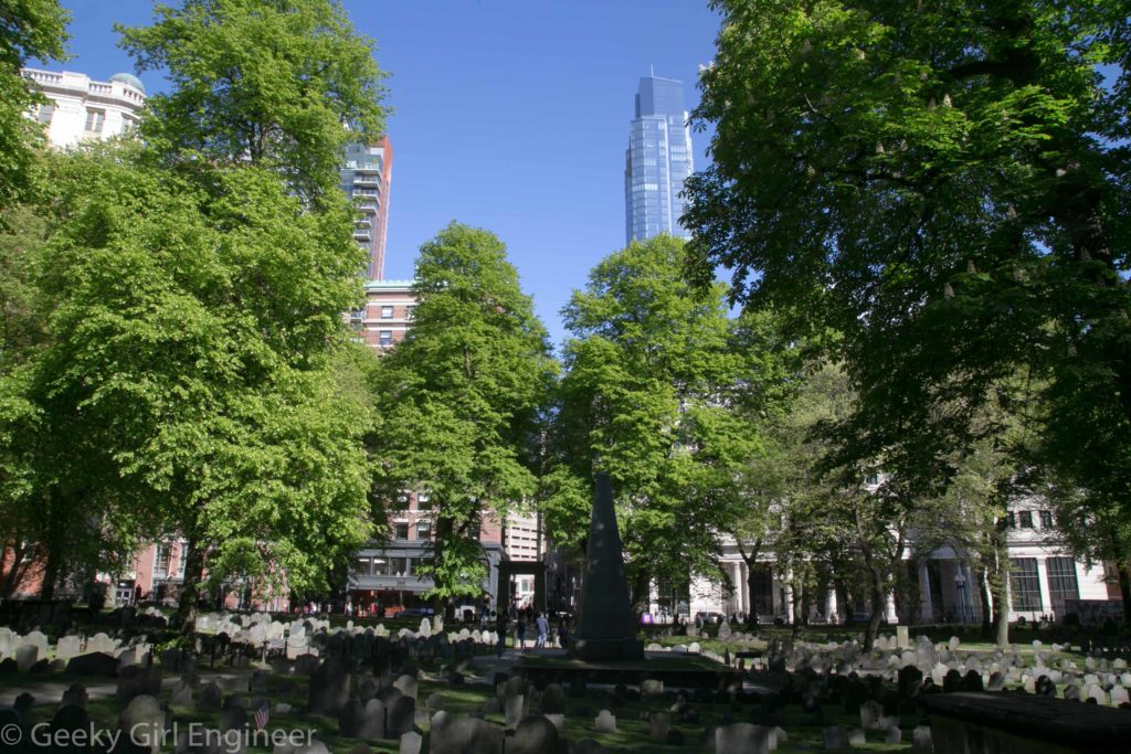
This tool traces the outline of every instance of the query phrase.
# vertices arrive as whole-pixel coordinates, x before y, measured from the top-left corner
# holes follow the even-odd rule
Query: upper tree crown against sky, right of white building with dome
[[[338,198],[348,141],[383,128],[385,77],[372,40],[337,0],[184,0],[156,21],[122,27],[141,70],[165,70],[141,133],[156,150],[278,171],[313,199]]]

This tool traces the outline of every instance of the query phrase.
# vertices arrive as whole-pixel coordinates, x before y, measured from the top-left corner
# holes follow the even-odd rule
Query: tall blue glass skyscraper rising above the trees
[[[683,110],[683,83],[646,76],[636,97],[624,158],[628,242],[661,233],[682,237],[683,181],[691,175],[691,128]]]

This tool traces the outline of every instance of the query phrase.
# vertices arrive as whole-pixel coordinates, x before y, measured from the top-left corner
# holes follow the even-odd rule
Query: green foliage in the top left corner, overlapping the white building
[[[57,0],[8,0],[0,6],[0,208],[27,197],[43,133],[25,115],[44,102],[19,69],[29,58],[66,60],[70,15]]]

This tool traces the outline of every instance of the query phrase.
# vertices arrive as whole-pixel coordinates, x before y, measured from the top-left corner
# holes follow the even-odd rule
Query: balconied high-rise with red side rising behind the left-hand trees
[[[392,185],[392,144],[382,136],[374,144],[346,147],[342,165],[342,190],[357,202],[360,216],[354,241],[365,250],[365,277],[385,277],[385,239],[389,227],[389,190]]]

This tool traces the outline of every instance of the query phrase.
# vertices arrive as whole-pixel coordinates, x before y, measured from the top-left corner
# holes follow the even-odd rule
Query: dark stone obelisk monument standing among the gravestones
[[[613,483],[607,474],[597,475],[589,522],[585,582],[577,634],[570,641],[570,656],[582,660],[638,660],[644,643],[637,639],[637,623],[624,580],[621,534],[613,508]]]

